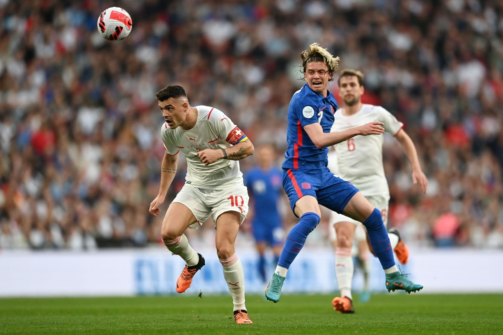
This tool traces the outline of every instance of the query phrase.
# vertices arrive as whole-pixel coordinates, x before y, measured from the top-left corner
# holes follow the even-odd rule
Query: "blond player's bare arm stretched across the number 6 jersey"
[[[357,135],[380,135],[384,133],[384,128],[381,126],[384,126],[382,122],[369,122],[342,132],[323,133],[319,123],[311,123],[304,126],[304,130],[316,148],[321,149],[347,141]]]

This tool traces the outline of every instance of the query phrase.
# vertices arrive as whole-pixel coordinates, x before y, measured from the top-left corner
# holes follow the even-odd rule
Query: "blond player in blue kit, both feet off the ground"
[[[363,222],[369,240],[386,274],[386,288],[421,290],[398,271],[381,212],[351,183],[326,167],[329,146],[357,135],[380,135],[381,122],[370,122],[342,132],[332,132],[337,102],[328,82],[338,68],[339,57],[313,43],[301,53],[302,72],[307,83],[290,100],[287,116],[287,151],[283,162],[283,188],[300,221],[288,233],[278,266],[266,289],[266,298],[278,302],[288,268],[302,249],[307,236],[320,221],[319,205]]]

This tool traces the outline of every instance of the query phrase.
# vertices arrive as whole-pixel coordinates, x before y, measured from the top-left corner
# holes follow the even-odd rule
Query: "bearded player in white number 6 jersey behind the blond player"
[[[345,131],[369,121],[384,123],[384,131],[398,140],[412,165],[413,183],[420,184],[421,189],[426,193],[428,179],[421,169],[414,143],[402,129],[403,124],[383,107],[363,104],[361,102],[363,92],[363,74],[360,71],[343,70],[339,76],[339,94],[344,100],[344,107],[338,109],[334,114],[335,121],[331,132]],[[339,176],[353,183],[365,198],[381,211],[384,225],[386,225],[388,221],[389,189],[382,162],[383,141],[383,136],[355,136],[334,147],[338,159]],[[366,239],[363,226],[358,227],[361,225],[356,220],[332,212],[330,236],[332,236],[333,240],[337,240],[337,243],[334,243],[334,245],[337,244],[336,276],[341,292],[341,297],[332,300],[332,306],[343,313],[354,312],[351,295],[351,281],[354,270],[351,249],[355,229],[357,230],[357,236],[359,235],[359,240]],[[394,250],[398,260],[402,264],[407,263],[407,246],[401,241],[395,229],[390,230],[388,233],[390,247]],[[372,248],[370,250],[372,251]]]

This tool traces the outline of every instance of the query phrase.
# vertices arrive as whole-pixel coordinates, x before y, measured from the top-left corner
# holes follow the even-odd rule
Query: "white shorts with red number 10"
[[[197,222],[194,222],[189,228],[197,229],[201,227],[210,215],[213,217],[216,226],[217,217],[229,210],[241,214],[239,224],[242,224],[248,213],[248,189],[244,185],[227,186],[223,190],[218,190],[198,188],[185,184],[173,202],[183,203],[196,217]]]

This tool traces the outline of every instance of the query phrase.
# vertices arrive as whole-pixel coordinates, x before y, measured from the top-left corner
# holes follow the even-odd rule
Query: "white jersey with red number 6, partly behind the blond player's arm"
[[[364,104],[352,116],[344,116],[342,109],[338,109],[334,118],[331,132],[341,132],[369,122],[379,121],[384,123],[383,127],[386,133],[395,136],[403,127],[403,124],[396,120],[389,111],[381,106],[371,104]],[[358,135],[335,145],[339,176],[355,185],[364,196],[389,196],[388,183],[382,163],[383,142],[383,135]],[[330,164],[330,159],[328,161]]]

